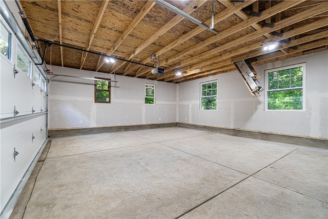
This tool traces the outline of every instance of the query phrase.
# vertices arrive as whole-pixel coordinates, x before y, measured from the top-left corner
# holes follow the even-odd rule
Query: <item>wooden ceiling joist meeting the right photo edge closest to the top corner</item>
[[[290,1],[288,1],[290,2]],[[281,4],[281,3],[280,3]],[[177,68],[179,66],[183,66],[183,65],[187,65],[191,62],[194,62],[200,58],[204,58],[204,57],[207,57],[209,55],[212,55],[212,54],[215,54],[215,53],[218,53],[222,50],[226,50],[226,49],[229,49],[231,47],[234,47],[234,46],[237,46],[239,44],[242,44],[244,42],[247,42],[247,41],[250,41],[251,39],[254,39],[254,38],[257,38],[261,35],[263,35],[263,33],[265,32],[271,32],[271,31],[274,31],[274,30],[277,30],[277,29],[281,29],[283,27],[286,27],[286,26],[289,26],[291,24],[294,24],[294,23],[297,23],[299,21],[302,21],[303,19],[306,19],[306,18],[310,18],[312,16],[315,16],[316,14],[319,14],[319,13],[322,13],[324,11],[328,11],[328,2],[324,3],[324,6],[325,7],[322,7],[322,5],[319,5],[319,6],[316,6],[314,8],[311,8],[311,9],[308,9],[306,11],[303,11],[302,13],[298,13],[298,14],[295,14],[293,16],[290,16],[288,18],[285,18],[283,19],[282,21],[276,23],[275,27],[274,28],[262,28],[262,30],[260,31],[256,31],[256,32],[253,32],[253,33],[250,33],[250,34],[247,34],[243,37],[240,37],[238,39],[235,39],[234,41],[231,41],[227,44],[223,44],[219,47],[216,47],[212,50],[209,50],[207,52],[203,52],[199,55],[196,55],[194,57],[191,57],[191,58],[188,58],[188,59],[185,59],[183,61],[181,61],[180,65],[172,65],[171,67],[167,68],[168,70],[172,70],[174,68]]]

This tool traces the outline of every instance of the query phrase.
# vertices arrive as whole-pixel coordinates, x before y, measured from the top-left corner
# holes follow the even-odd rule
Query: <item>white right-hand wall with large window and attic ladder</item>
[[[179,84],[178,122],[291,135],[328,138],[328,51],[256,66],[264,86],[264,70],[306,63],[306,111],[264,111],[264,91],[254,97],[237,71]],[[218,80],[217,111],[199,110],[199,84]]]

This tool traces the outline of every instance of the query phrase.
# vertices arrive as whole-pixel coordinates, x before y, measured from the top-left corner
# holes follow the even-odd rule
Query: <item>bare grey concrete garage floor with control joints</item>
[[[327,172],[327,149],[194,129],[53,138],[22,212],[24,218],[327,218]]]

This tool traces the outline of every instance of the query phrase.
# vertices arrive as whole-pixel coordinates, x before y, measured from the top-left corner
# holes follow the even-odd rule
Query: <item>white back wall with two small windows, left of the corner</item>
[[[114,80],[113,74],[93,71],[58,66],[52,66],[51,71]],[[116,81],[111,83],[111,103],[107,104],[94,103],[94,81],[55,78],[49,84],[49,129],[176,122],[176,84],[120,75]],[[144,104],[145,84],[156,85],[156,105]]]

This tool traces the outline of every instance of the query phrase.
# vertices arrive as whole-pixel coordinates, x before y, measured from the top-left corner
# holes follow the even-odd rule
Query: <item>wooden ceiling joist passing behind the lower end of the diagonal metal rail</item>
[[[244,7],[249,6],[250,4],[256,2],[257,0],[250,0],[247,1],[245,3],[241,3],[241,4],[237,4],[237,5],[233,5],[231,4],[229,7],[227,7],[226,9],[224,9],[222,12],[220,12],[219,14],[217,14],[214,17],[214,24],[217,24],[221,21],[223,21],[224,19],[226,19],[227,17],[231,16],[232,14],[237,13],[239,10],[243,9]],[[205,24],[210,24],[212,21],[212,19],[208,19],[208,21],[204,22]],[[162,49],[158,50],[156,52],[156,55],[161,55],[171,49],[173,49],[174,47],[178,46],[179,44],[187,41],[188,39],[190,39],[191,37],[201,33],[202,31],[204,31],[204,28],[202,27],[196,27],[193,30],[189,31],[187,34],[182,35],[180,38],[176,39],[175,41],[173,41],[172,43],[170,43],[169,45],[163,47]],[[146,59],[144,59],[141,63],[142,64],[146,64],[148,62],[152,61],[151,57],[148,57]],[[134,69],[132,69],[131,71],[133,71]],[[142,72],[140,75],[145,74],[147,72]],[[137,76],[140,76],[137,75]]]

